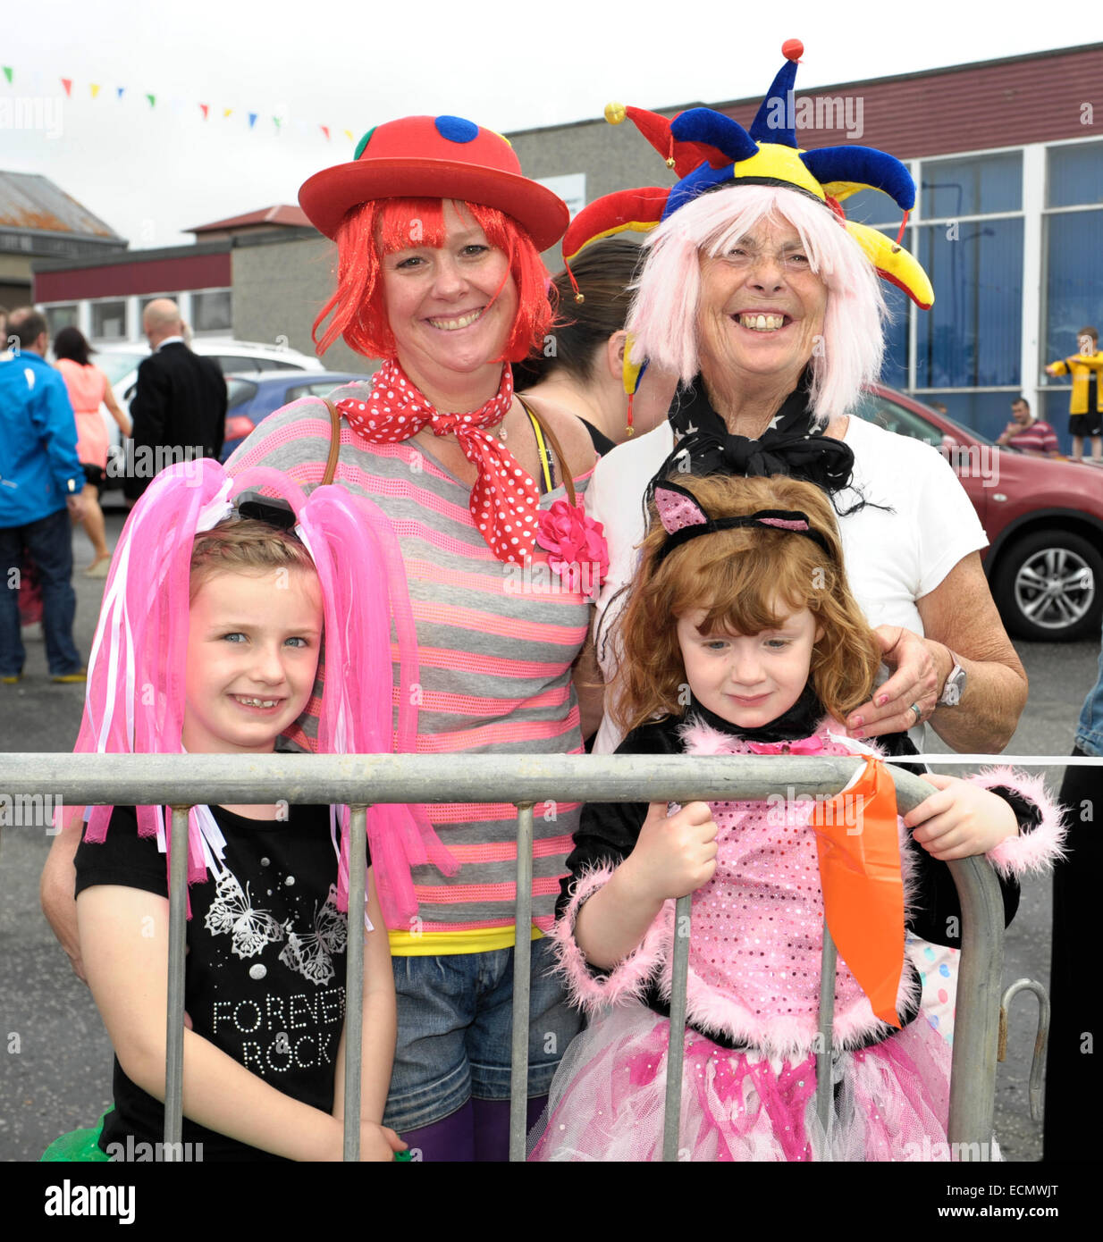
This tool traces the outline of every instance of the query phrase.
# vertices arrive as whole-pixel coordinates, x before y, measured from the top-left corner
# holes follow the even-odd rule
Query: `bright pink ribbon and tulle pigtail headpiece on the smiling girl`
[[[247,489],[284,498],[318,573],[324,606],[325,677],[318,719],[323,754],[412,751],[417,735],[417,640],[406,575],[394,529],[365,497],[318,487],[309,497],[286,474],[258,467],[231,477],[200,458],[161,471],[130,510],[112,558],[92,656],[78,754],[181,754],[190,565],[196,534],[234,512]],[[277,502],[278,505],[278,502]],[[399,681],[393,724],[391,626]],[[86,840],[106,840],[112,807],[88,811]],[[139,836],[166,850],[166,812],[139,806]],[[349,811],[340,822],[338,907],[348,904]],[[334,822],[337,843],[338,823]],[[384,918],[405,927],[417,912],[410,868],[457,866],[421,807],[376,805],[368,810],[371,866]],[[188,881],[221,874],[225,842],[207,807],[189,815]]]

